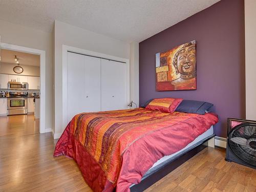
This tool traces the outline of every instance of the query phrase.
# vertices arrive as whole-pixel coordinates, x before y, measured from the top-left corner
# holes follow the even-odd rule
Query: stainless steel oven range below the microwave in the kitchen
[[[7,115],[28,114],[28,92],[10,92]]]

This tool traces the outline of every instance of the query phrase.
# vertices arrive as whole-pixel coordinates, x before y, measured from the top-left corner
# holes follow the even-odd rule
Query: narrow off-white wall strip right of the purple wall
[[[245,0],[246,119],[256,120],[256,1]]]

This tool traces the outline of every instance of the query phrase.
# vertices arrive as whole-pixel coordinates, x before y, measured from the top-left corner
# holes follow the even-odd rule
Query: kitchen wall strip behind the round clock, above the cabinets
[[[21,74],[17,74],[13,71],[13,68],[15,66],[17,65],[13,63],[1,62],[0,73],[13,74],[13,75],[29,75],[29,76],[38,76],[38,77],[40,76],[40,67],[21,65],[24,71]]]

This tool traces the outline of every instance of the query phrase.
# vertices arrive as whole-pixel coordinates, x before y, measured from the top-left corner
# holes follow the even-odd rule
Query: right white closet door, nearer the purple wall
[[[101,59],[101,111],[127,109],[125,63]]]

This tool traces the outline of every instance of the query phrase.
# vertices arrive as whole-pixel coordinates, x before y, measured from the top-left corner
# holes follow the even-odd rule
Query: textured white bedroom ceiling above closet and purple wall
[[[51,32],[54,20],[140,42],[220,0],[0,0],[0,19]],[[3,26],[1,26],[3,27]]]

